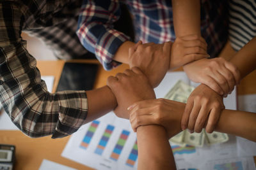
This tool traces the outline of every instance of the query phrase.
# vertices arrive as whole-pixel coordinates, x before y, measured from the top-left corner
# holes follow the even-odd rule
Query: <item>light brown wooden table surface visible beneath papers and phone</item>
[[[80,60],[79,62],[84,62]],[[88,62],[99,63],[97,61],[90,60]],[[53,75],[54,88],[56,90],[58,80],[60,79],[61,70],[64,65],[63,60],[58,61],[38,61],[37,66],[44,76]],[[106,85],[108,76],[115,75],[118,72],[122,72],[129,68],[127,65],[122,65],[113,71],[104,71],[102,67],[99,67],[97,74],[97,80],[95,88]],[[248,75],[241,81],[241,85],[238,87],[237,94],[256,94],[256,71]],[[15,169],[17,170],[34,170],[40,167],[43,159],[48,159],[66,166],[74,167],[76,169],[91,169],[90,167],[83,166],[72,160],[61,157],[61,152],[65,148],[65,145],[70,137],[61,139],[51,139],[51,136],[44,138],[28,138],[20,131],[0,131],[0,143],[15,145],[16,148],[16,163]],[[256,161],[256,157],[255,161]],[[86,158],[84,158],[86,159]]]

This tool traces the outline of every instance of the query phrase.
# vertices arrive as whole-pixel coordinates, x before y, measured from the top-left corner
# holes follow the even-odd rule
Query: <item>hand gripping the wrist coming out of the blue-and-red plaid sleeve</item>
[[[140,67],[152,87],[157,87],[169,69],[171,43],[142,44],[141,41],[129,48],[129,66]]]

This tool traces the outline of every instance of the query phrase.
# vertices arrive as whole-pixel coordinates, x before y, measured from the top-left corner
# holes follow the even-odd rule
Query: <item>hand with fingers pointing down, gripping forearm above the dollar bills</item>
[[[223,97],[206,85],[199,85],[188,98],[181,120],[182,130],[201,132],[206,125],[205,131],[213,132],[223,109]]]

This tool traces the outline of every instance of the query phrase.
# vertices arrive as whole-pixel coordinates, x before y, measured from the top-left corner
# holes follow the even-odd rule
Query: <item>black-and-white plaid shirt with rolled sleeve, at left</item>
[[[0,101],[12,122],[26,135],[61,138],[76,132],[88,113],[86,92],[51,94],[36,60],[26,50],[22,31],[42,38],[59,57],[83,57],[76,38],[77,0],[0,2]]]

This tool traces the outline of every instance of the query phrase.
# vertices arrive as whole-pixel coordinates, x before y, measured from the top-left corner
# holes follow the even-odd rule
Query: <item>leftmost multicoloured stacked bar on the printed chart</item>
[[[99,125],[99,121],[94,120],[92,124],[90,125],[88,131],[86,132],[83,141],[81,142],[80,147],[81,148],[88,148],[88,145],[90,144],[90,141],[92,140],[93,134],[95,134],[95,131],[97,130],[97,127]]]

